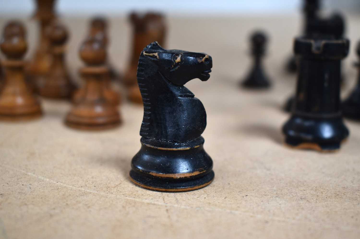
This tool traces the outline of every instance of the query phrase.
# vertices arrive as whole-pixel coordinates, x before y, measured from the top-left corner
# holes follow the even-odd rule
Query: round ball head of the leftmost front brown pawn
[[[3,36],[0,41],[0,48],[8,59],[20,60],[26,53],[27,43],[21,36]]]

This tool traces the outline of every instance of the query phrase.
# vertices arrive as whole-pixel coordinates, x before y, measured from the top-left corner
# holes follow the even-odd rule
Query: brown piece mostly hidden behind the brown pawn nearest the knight
[[[108,48],[109,41],[108,41],[106,29],[107,29],[107,21],[104,18],[100,18],[100,17],[94,18],[93,20],[91,20],[89,37],[101,41],[102,44],[105,46],[105,48]],[[120,94],[115,92],[111,88],[110,77],[111,75],[113,75],[113,77],[117,78],[118,74],[112,68],[111,64],[109,64],[108,61],[106,62],[107,62],[106,65],[109,69],[109,74],[102,81],[104,97],[107,98],[109,102],[117,106],[118,104],[120,104],[121,98],[120,98]],[[86,92],[85,86],[77,90],[74,94],[73,102],[75,103],[79,102],[85,96],[85,92]]]

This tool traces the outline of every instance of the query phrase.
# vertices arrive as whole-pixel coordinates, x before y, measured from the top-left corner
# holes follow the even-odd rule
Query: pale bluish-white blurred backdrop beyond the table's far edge
[[[0,14],[28,14],[34,8],[30,0],[0,0]],[[273,13],[292,14],[298,11],[301,0],[62,0],[58,2],[58,10],[64,15],[88,15],[107,13],[123,15],[131,10],[156,9],[172,15],[222,15]],[[359,0],[324,0],[325,9],[341,9],[359,11]]]

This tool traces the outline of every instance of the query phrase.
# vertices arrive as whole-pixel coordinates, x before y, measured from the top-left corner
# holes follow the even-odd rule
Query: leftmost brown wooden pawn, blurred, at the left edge
[[[6,56],[3,66],[5,82],[0,91],[1,120],[30,120],[41,116],[39,101],[26,84],[23,56],[27,50],[25,33],[7,25],[0,48]]]

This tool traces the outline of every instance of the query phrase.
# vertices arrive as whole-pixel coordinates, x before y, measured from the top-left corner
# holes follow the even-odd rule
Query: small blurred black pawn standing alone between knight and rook
[[[251,55],[254,62],[249,75],[241,85],[244,88],[264,89],[270,87],[270,81],[267,78],[263,66],[262,58],[265,55],[267,37],[263,32],[254,32],[250,37]]]

